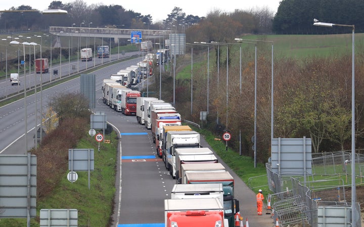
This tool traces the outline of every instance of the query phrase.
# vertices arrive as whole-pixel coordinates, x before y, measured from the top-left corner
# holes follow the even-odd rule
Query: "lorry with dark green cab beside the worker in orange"
[[[229,220],[229,227],[235,226],[235,214],[239,212],[239,201],[234,198],[234,178],[225,172],[186,173],[187,184],[222,184],[224,217]]]

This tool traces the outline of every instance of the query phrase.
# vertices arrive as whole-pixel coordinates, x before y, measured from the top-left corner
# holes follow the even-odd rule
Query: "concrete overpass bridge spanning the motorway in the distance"
[[[118,29],[118,28],[88,28],[88,27],[50,27],[49,32],[57,37],[54,47],[60,47],[61,36],[77,36],[77,37],[98,37],[98,38],[114,38],[115,43],[120,38],[130,39],[131,32],[140,32],[143,40],[166,39],[171,30],[145,30],[145,29]]]

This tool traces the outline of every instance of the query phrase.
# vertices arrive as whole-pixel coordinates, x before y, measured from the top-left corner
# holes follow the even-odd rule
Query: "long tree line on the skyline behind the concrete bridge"
[[[193,25],[203,20],[198,16],[187,15],[182,9],[175,7],[168,17],[159,22],[153,22],[151,15],[142,15],[132,10],[125,10],[120,5],[87,5],[83,0],[63,4],[61,1],[53,1],[49,9],[62,9],[67,15],[42,15],[40,12],[6,12],[1,14],[0,28],[4,31],[9,29],[38,30],[47,29],[49,26],[71,26],[92,22],[92,27],[113,26],[115,28],[135,29],[166,29],[172,25]],[[18,8],[12,7],[10,11],[36,10],[30,6],[22,5]],[[162,27],[161,27],[162,26]]]

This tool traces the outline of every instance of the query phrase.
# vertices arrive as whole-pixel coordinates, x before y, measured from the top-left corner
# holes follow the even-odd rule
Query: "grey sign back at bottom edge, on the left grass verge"
[[[77,227],[78,213],[76,209],[41,209],[40,227],[69,226]]]

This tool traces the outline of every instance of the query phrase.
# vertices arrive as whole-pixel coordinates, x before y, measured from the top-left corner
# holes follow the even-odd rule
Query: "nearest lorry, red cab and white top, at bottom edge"
[[[164,222],[166,227],[228,227],[217,198],[165,199]]]

